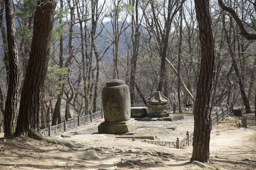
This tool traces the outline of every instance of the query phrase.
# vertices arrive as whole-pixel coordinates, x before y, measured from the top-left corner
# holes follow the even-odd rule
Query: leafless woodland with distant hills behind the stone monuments
[[[13,2],[20,101],[37,0]],[[236,11],[248,32],[255,33],[256,0],[225,4]],[[2,116],[11,76],[5,9],[4,0],[0,0]],[[217,0],[212,0],[211,10],[216,46],[212,103],[233,102],[250,112],[256,89],[256,42],[239,34],[239,25],[222,11]],[[194,0],[58,0],[40,96],[41,128],[100,110],[102,88],[111,79],[125,81],[131,104],[145,103],[155,91],[162,91],[172,103],[193,103],[201,59],[198,37]],[[0,121],[1,130],[2,117]]]

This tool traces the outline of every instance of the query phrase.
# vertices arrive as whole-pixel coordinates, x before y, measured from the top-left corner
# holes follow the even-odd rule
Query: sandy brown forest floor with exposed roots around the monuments
[[[183,120],[138,121],[136,133],[113,135],[97,133],[100,119],[66,133],[67,147],[34,139],[4,139],[0,133],[0,169],[2,170],[201,170],[189,162],[192,146],[175,149],[142,142],[149,139],[117,138],[154,136],[155,141],[175,142],[186,131],[193,131],[192,113],[182,113]],[[213,127],[210,139],[210,165],[226,170],[256,169],[256,122],[254,113],[243,114],[250,128],[238,128],[236,116],[230,116]],[[175,127],[175,130],[172,130]],[[60,136],[60,135],[58,135]],[[97,159],[78,153],[95,150]]]

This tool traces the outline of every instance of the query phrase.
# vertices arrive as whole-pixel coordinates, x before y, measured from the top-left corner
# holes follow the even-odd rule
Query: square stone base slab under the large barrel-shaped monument
[[[125,122],[102,122],[98,126],[99,133],[127,133],[137,128],[137,120],[130,119]]]

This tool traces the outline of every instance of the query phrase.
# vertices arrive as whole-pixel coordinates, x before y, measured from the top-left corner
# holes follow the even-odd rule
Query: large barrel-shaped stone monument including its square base
[[[106,82],[102,105],[105,122],[98,126],[99,133],[127,133],[137,128],[137,121],[131,119],[130,91],[124,81]]]

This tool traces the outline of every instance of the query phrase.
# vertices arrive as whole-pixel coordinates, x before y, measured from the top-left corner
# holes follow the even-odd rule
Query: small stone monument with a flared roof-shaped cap
[[[151,108],[148,117],[166,117],[169,116],[166,108],[168,107],[169,99],[163,96],[160,91],[156,91],[153,96],[148,98],[148,107]]]

